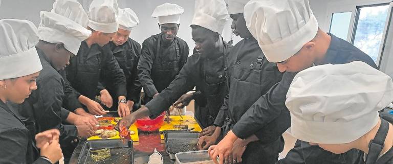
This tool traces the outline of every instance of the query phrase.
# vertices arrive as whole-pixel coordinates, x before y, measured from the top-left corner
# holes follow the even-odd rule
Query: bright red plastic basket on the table
[[[142,131],[156,131],[164,124],[165,112],[162,112],[156,119],[151,120],[149,117],[138,119],[135,125]]]

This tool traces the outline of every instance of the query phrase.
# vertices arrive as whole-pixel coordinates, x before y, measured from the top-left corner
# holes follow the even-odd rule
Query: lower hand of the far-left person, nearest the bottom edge
[[[46,143],[40,148],[40,155],[51,160],[52,164],[56,163],[63,157],[59,140],[53,140],[52,143]]]

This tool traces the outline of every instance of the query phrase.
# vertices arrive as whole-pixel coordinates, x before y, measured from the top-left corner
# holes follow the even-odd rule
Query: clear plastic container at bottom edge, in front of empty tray
[[[207,150],[176,153],[174,156],[177,164],[214,164]]]

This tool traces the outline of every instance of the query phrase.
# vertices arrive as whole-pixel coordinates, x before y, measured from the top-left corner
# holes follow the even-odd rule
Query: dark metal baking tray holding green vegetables
[[[92,150],[110,148],[111,157],[103,161],[95,162],[90,157]],[[89,140],[86,142],[79,154],[78,164],[89,164],[89,163],[134,163],[133,154],[133,141],[127,140],[125,143],[120,139],[100,139],[100,140]]]

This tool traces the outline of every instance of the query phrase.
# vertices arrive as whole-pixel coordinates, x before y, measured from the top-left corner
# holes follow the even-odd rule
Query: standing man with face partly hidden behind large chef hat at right
[[[233,33],[244,38],[233,46],[228,56],[228,95],[224,100],[214,125],[214,133],[199,139],[199,148],[208,149],[216,144],[221,134],[226,134],[240,120],[247,109],[282,78],[276,63],[269,62],[260,50],[257,40],[247,29],[243,8],[247,1],[228,1],[228,12],[233,19]],[[237,139],[228,161],[237,163],[274,163],[283,149],[281,134],[287,130],[281,118],[290,119],[289,112],[282,112],[255,135]],[[209,134],[208,131],[202,134]],[[246,148],[247,147],[247,148]]]

